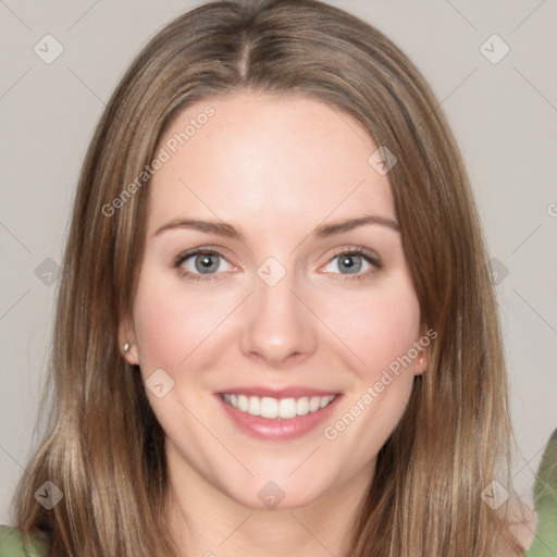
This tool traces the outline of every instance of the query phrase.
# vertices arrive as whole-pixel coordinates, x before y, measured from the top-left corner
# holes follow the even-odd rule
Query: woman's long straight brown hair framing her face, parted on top
[[[512,434],[494,293],[458,147],[408,58],[377,29],[314,0],[197,8],[150,40],[112,95],[77,187],[52,413],[14,500],[17,524],[47,532],[58,557],[177,554],[164,520],[164,433],[117,343],[144,248],[149,181],[137,176],[180,111],[243,89],[324,100],[398,160],[388,177],[404,249],[437,337],[379,454],[350,557],[487,557],[503,542],[511,547],[505,506],[494,511],[481,497],[493,480],[512,491]],[[51,510],[34,497],[46,481],[63,492]]]

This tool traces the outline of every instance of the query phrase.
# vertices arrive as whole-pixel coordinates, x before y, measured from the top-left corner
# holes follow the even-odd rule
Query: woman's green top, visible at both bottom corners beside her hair
[[[557,430],[545,449],[534,484],[537,527],[524,557],[557,556]],[[0,525],[0,557],[46,557],[48,542],[38,534],[25,543],[17,528]]]

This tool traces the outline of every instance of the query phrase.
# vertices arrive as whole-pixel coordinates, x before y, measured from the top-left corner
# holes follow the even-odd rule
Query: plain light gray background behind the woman
[[[199,3],[0,0],[0,523],[10,523],[9,499],[37,443],[52,271],[86,146],[140,47]],[[557,428],[557,2],[331,3],[379,27],[414,61],[462,149],[497,260],[520,448],[515,481],[528,502],[541,451]],[[50,64],[34,51],[37,44],[47,49],[47,34],[63,47]],[[503,52],[497,39],[485,44],[493,34],[510,48],[498,63],[484,55]],[[49,42],[50,54],[53,48]]]

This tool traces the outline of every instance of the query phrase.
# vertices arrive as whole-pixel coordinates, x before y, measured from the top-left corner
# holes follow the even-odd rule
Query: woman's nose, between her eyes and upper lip
[[[295,289],[293,274],[273,286],[256,275],[253,294],[244,305],[242,351],[274,368],[299,363],[318,345],[315,318]]]

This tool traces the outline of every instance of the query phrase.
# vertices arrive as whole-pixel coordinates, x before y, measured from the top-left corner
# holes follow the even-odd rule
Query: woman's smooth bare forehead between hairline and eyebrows
[[[151,181],[148,227],[177,215],[242,225],[315,225],[370,211],[395,219],[387,176],[368,162],[376,149],[352,116],[301,95],[198,102],[156,151],[166,160]]]

